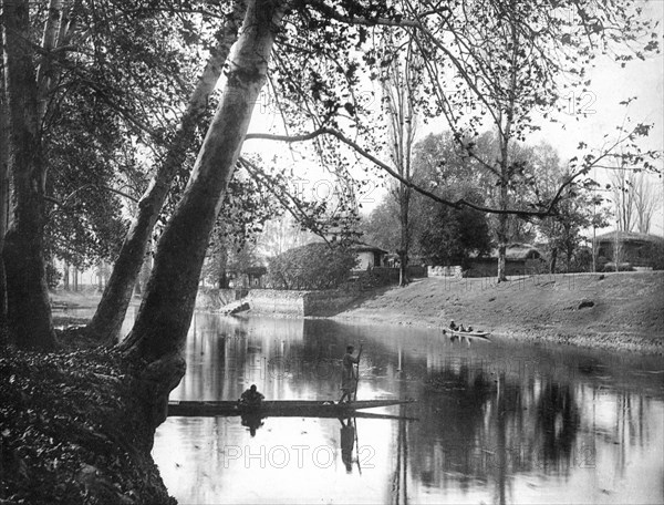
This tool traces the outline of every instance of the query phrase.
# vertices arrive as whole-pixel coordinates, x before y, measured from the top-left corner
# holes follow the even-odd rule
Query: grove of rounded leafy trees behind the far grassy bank
[[[480,135],[474,147],[477,156],[498,157],[498,144],[491,133]],[[528,208],[528,202],[552,198],[560,184],[570,176],[552,146],[517,145],[515,163],[522,166],[519,178],[509,190],[510,198]],[[414,146],[413,167],[416,181],[423,187],[446,199],[463,198],[478,206],[495,205],[500,187],[490,173],[479,169],[479,162],[454,141],[452,133],[428,135]],[[518,182],[518,184],[517,184]],[[508,243],[538,243],[549,258],[549,270],[572,271],[591,267],[587,257],[584,233],[609,224],[605,197],[596,192],[593,181],[569,184],[560,195],[557,213],[546,217],[515,215],[504,219],[473,208],[446,206],[423,195],[414,195],[411,203],[411,249],[419,260],[434,265],[468,266],[469,258],[488,255],[499,244],[498,231]],[[396,235],[400,206],[388,195],[362,225],[371,244],[387,250],[400,247]],[[559,256],[563,262],[559,262]],[[580,265],[577,259],[587,261]],[[562,267],[562,268],[561,268]]]

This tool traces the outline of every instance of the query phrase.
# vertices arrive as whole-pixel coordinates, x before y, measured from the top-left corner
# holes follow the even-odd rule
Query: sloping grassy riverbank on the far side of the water
[[[446,328],[450,320],[530,342],[664,354],[664,272],[418,279],[334,319]]]

